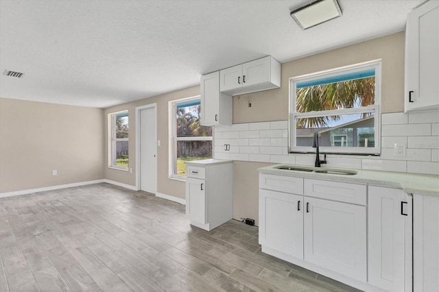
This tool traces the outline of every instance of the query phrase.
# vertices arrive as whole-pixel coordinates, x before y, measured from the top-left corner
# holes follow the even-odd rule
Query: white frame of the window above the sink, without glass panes
[[[375,69],[375,104],[359,108],[343,108],[337,110],[321,110],[311,112],[296,112],[296,84],[320,80],[322,78],[334,77],[348,73],[355,73],[367,69]],[[296,146],[296,120],[312,117],[326,117],[331,115],[361,114],[373,112],[375,127],[375,147],[324,147],[321,146],[320,153],[324,154],[346,154],[346,155],[381,155],[381,60],[373,60],[350,66],[343,66],[336,69],[320,71],[307,75],[300,75],[289,78],[289,121],[288,121],[288,150],[290,154],[316,153],[316,149],[306,146]],[[338,148],[338,149],[337,149]]]

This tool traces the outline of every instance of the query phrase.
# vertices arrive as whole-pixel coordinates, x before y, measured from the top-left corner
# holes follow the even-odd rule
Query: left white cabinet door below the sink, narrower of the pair
[[[303,196],[259,189],[259,243],[303,258]]]

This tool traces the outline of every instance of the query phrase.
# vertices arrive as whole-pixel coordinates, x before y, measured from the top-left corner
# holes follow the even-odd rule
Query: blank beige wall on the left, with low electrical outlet
[[[103,130],[102,109],[0,98],[0,193],[103,179]]]

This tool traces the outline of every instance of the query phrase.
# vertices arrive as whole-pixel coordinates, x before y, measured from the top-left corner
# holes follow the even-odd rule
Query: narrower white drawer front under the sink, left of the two
[[[303,195],[303,178],[261,173],[259,174],[259,188]]]

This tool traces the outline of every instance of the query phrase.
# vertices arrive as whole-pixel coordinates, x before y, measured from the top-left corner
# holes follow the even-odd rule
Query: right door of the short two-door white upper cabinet
[[[270,82],[270,56],[242,64],[242,86]]]

